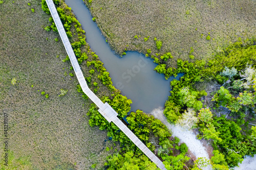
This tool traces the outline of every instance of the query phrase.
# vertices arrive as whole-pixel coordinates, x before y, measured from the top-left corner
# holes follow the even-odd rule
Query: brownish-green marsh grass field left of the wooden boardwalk
[[[61,61],[67,54],[62,42],[54,40],[60,39],[58,33],[44,30],[48,19],[39,0],[0,4],[0,169],[92,169],[92,164],[100,169],[119,146],[106,131],[89,126],[91,101],[77,92],[78,81],[69,75],[74,74],[71,63]],[[60,89],[67,94],[58,96]],[[8,167],[3,165],[4,114]]]

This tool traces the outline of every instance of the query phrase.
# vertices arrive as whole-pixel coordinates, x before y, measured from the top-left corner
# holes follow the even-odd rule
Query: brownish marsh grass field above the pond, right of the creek
[[[151,48],[154,55],[171,52],[176,60],[194,61],[188,57],[193,47],[195,59],[208,59],[230,42],[256,32],[253,0],[92,0],[86,4],[118,54],[125,48],[145,54]],[[154,37],[163,42],[160,51]]]

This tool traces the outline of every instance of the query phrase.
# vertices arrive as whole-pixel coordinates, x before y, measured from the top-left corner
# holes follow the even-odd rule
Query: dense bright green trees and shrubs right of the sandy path
[[[254,44],[254,38],[239,40],[219,52],[208,63],[204,60],[191,63],[178,59],[177,68],[166,68],[161,62],[155,68],[159,73],[165,74],[166,79],[169,75],[184,73],[180,80],[170,82],[172,91],[165,103],[164,114],[170,123],[184,125],[185,121],[186,128],[199,128],[198,137],[212,140],[215,152],[223,155],[225,166],[237,166],[246,155],[256,154],[254,130],[248,126],[256,116]],[[212,94],[197,90],[197,82],[209,80],[216,81],[219,90]],[[215,112],[212,117],[211,108],[203,106],[202,97],[206,95],[210,95],[214,102],[212,111],[226,108],[225,115],[219,117]]]

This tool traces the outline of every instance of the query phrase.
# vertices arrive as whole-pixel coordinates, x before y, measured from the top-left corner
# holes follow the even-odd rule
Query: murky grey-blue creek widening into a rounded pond
[[[104,63],[106,70],[110,72],[113,85],[133,101],[131,110],[141,109],[150,113],[155,108],[163,107],[170,95],[169,82],[174,77],[165,80],[164,75],[154,71],[157,64],[138,52],[127,52],[122,58],[115,55],[109,44],[105,42],[105,38],[92,20],[91,13],[83,1],[66,0],[65,2],[72,8],[82,28],[86,31],[90,47]],[[179,74],[176,79],[179,79],[181,75]]]

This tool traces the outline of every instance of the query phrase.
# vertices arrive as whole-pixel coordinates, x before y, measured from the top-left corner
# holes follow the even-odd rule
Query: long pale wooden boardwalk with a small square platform
[[[89,89],[87,86],[86,80],[83,77],[82,70],[77,62],[76,56],[73,52],[72,46],[69,42],[69,38],[66,34],[66,31],[61,23],[57,10],[52,0],[46,0],[48,8],[52,14],[55,25],[58,29],[60,38],[65,46],[67,54],[70,58],[71,64],[75,70],[76,77],[81,85],[82,91],[99,107],[99,112],[102,116],[108,120],[108,122],[113,122],[123,133],[129,137],[137,147],[148,157],[150,158],[160,169],[166,170],[164,164],[158,157],[152,153],[144,143],[129,129],[127,128],[121,120],[117,117],[117,112],[108,104],[101,102],[101,100]]]

